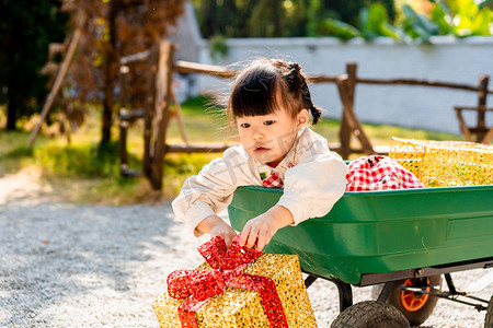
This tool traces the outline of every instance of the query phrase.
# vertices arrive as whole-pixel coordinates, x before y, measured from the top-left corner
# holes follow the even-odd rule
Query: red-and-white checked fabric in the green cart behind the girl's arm
[[[408,169],[387,156],[364,156],[353,161],[346,174],[346,191],[423,188]]]

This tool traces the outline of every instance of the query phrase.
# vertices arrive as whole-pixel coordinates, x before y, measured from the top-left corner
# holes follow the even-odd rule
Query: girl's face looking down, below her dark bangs
[[[237,117],[241,144],[264,164],[282,161],[295,143],[299,129],[307,122],[307,109],[296,117],[284,108],[268,115]]]

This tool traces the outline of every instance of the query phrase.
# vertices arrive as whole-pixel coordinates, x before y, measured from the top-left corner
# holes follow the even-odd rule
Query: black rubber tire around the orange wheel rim
[[[426,278],[424,278],[426,279]],[[431,276],[428,277],[429,284],[431,285],[442,285],[442,276]],[[428,300],[426,300],[426,303],[423,305],[422,308],[415,312],[409,312],[402,306],[401,303],[401,285],[404,283],[404,280],[401,281],[401,283],[397,283],[395,286],[390,292],[389,298],[387,300],[387,303],[391,304],[393,307],[402,312],[404,317],[408,318],[411,326],[420,326],[426,319],[432,315],[433,311],[435,309],[436,303],[438,302],[437,296],[429,295]],[[423,283],[425,283],[423,281]],[[438,292],[438,289],[432,289],[431,291]]]

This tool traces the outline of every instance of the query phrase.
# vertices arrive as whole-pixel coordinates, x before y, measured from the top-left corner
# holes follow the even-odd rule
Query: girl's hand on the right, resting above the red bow
[[[240,245],[253,247],[257,242],[256,249],[262,251],[279,229],[294,222],[293,214],[288,209],[275,206],[267,212],[246,222],[241,233]]]

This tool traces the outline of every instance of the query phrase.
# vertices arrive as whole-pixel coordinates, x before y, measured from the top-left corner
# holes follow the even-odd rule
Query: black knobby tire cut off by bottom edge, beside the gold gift
[[[390,304],[377,301],[356,303],[342,312],[331,328],[410,328],[404,315]]]

